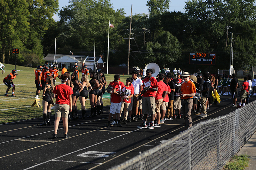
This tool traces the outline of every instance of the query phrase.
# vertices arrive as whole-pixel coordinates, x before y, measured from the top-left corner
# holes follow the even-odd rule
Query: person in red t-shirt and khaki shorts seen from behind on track
[[[54,113],[54,132],[52,138],[57,138],[57,130],[59,127],[60,117],[62,117],[64,137],[68,138],[68,113],[72,111],[72,94],[73,91],[70,86],[66,85],[68,77],[66,74],[61,75],[61,84],[56,85],[53,89],[53,98],[56,98]]]

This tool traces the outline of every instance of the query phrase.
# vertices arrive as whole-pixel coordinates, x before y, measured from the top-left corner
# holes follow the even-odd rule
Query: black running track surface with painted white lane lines
[[[255,97],[250,100],[255,100]],[[230,107],[231,104],[230,95],[221,96],[220,104],[207,109],[207,117],[192,114],[193,125],[234,111],[236,107]],[[122,128],[116,125],[104,127],[109,113],[109,106],[106,106],[104,113],[95,118],[69,122],[70,138],[64,138],[60,122],[57,138],[52,139],[53,112],[52,125],[46,127],[39,126],[42,118],[0,125],[1,169],[108,169],[184,129],[184,119],[165,121],[155,129],[137,128],[142,120],[122,124]],[[86,110],[87,115],[89,112]],[[78,113],[81,115],[81,111]]]

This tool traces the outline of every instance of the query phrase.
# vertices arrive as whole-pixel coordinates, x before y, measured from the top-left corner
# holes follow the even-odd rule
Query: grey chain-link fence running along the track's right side
[[[256,100],[197,123],[167,142],[109,170],[221,170],[256,130]]]

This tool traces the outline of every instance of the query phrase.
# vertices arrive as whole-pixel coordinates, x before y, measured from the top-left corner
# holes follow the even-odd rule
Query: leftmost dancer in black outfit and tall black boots
[[[52,76],[48,76],[45,79],[45,85],[44,85],[44,89],[43,89],[43,120],[44,121],[42,124],[40,124],[40,126],[51,125],[50,117],[51,117],[52,101],[51,101],[51,97],[47,90],[46,85],[51,85],[52,90],[54,89]]]

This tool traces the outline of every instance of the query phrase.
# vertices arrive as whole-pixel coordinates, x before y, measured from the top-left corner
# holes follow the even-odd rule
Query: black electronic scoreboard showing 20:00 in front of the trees
[[[215,58],[212,53],[189,53],[189,64],[215,65]]]

